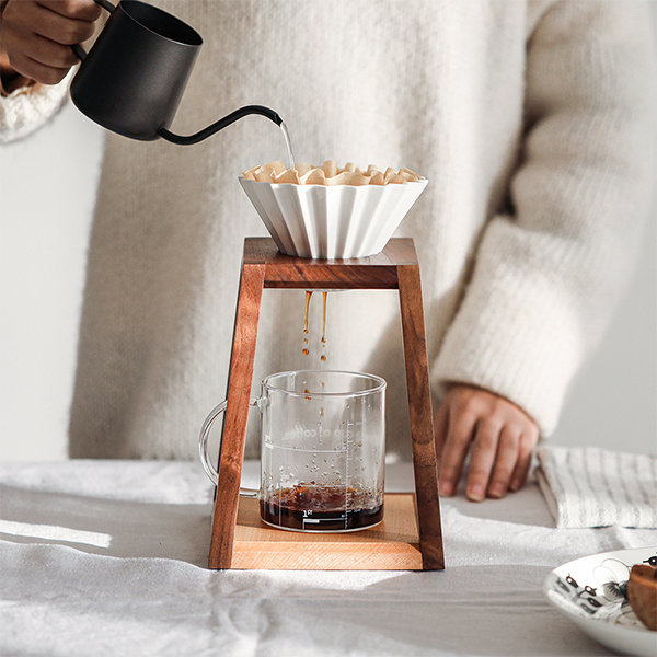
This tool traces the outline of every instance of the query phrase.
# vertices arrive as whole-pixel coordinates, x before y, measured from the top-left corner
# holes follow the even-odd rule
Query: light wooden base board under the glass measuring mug
[[[240,498],[232,568],[265,570],[422,570],[415,495],[389,493],[383,521],[348,533],[273,529],[256,499]]]

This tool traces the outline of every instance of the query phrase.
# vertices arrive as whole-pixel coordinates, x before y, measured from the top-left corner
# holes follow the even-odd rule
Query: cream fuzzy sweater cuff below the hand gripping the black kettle
[[[76,68],[58,84],[36,84],[0,96],[0,143],[26,137],[64,106]]]

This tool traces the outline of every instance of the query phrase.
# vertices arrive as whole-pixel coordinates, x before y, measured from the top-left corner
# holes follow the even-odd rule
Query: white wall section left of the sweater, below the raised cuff
[[[0,460],[67,457],[102,143],[69,103],[0,146]]]

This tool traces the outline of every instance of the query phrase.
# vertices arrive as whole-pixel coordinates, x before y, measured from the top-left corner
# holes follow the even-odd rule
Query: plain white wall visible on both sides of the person
[[[654,10],[657,25],[657,3]],[[69,104],[30,139],[0,147],[0,460],[67,456],[102,137]],[[656,224],[657,210],[634,279],[575,381],[555,442],[657,452]]]

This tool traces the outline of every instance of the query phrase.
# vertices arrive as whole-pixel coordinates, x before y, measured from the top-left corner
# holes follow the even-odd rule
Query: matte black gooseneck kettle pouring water
[[[263,105],[235,110],[189,136],[169,130],[194,67],[203,38],[189,25],[139,0],[116,7],[94,0],[111,13],[87,54],[71,46],[82,61],[71,83],[71,100],[89,118],[131,139],[162,137],[181,145],[197,143],[249,114],[261,114],[280,126],[280,116]]]

